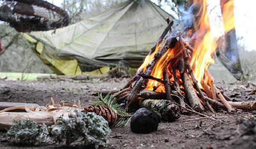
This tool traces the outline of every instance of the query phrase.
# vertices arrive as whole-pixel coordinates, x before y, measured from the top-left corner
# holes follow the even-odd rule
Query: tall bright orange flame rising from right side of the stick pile
[[[198,15],[201,17],[197,20],[197,24],[195,25],[196,32],[193,37],[193,39],[195,39],[195,51],[192,54],[190,65],[196,80],[198,80],[198,83],[201,83],[205,69],[207,69],[210,64],[214,63],[211,55],[217,48],[216,41],[218,37],[213,36],[210,28],[207,1],[196,0],[194,4],[200,6]]]

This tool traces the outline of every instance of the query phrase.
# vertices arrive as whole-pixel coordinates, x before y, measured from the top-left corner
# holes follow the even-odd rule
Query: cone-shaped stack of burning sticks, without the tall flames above
[[[168,24],[151,49],[149,55],[154,56],[147,66],[139,69],[119,92],[112,92],[112,96],[116,97],[119,103],[126,104],[127,112],[139,109],[143,106],[141,103],[147,99],[170,100],[180,107],[181,113],[188,112],[187,110],[215,113],[220,109],[228,112],[241,109],[241,104],[237,106],[236,102],[231,102],[230,98],[215,86],[207,68],[204,70],[204,79],[200,83],[196,80],[190,65],[194,49],[184,42],[180,32],[172,32],[172,25],[173,22]],[[156,71],[162,73],[161,77],[152,75]],[[149,81],[152,80],[156,85],[148,89]],[[163,89],[160,89],[161,87]],[[244,104],[243,110],[246,109],[245,105],[247,104]],[[253,110],[253,107],[247,105],[247,110]]]

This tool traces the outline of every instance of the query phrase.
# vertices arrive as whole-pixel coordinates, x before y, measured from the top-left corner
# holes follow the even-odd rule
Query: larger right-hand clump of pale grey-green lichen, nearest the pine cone
[[[51,127],[51,134],[56,141],[61,142],[66,139],[66,144],[70,144],[80,137],[84,144],[95,144],[95,148],[108,145],[108,136],[111,129],[108,122],[101,116],[93,112],[84,113],[75,111],[76,115],[69,115],[68,119],[59,117],[57,123]]]

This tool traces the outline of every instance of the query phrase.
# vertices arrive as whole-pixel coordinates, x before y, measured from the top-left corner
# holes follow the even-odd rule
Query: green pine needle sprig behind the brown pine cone
[[[93,103],[95,106],[106,106],[112,109],[114,112],[119,114],[121,117],[117,120],[115,126],[120,127],[120,126],[127,126],[128,122],[131,119],[131,115],[125,110],[117,107],[118,104],[116,103],[116,98],[113,98],[111,96],[111,92],[108,93],[105,97],[102,97],[102,94],[97,91],[97,94],[99,96],[99,101],[96,101]]]

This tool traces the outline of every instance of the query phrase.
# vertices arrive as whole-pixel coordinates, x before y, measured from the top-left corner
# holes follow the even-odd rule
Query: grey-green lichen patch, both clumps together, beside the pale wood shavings
[[[108,145],[108,136],[111,133],[108,121],[95,113],[76,110],[68,118],[58,117],[57,123],[58,125],[47,127],[32,120],[17,120],[7,131],[7,136],[12,143],[28,146],[60,143],[64,140],[69,145],[79,139],[85,145],[95,144],[96,149]]]

